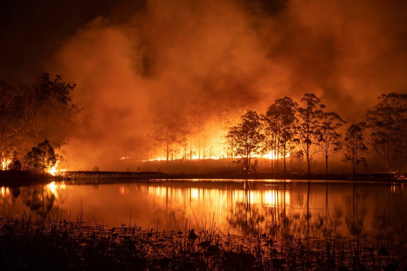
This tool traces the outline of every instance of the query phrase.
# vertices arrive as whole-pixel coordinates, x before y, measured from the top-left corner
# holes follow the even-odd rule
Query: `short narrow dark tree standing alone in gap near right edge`
[[[352,173],[356,173],[356,167],[359,165],[367,166],[366,159],[360,157],[361,153],[368,150],[363,143],[362,128],[358,124],[349,126],[345,137],[346,154],[345,163],[352,163]]]

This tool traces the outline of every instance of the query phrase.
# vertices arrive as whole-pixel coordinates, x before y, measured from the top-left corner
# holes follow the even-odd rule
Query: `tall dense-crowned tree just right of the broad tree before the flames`
[[[298,104],[289,97],[275,100],[274,104],[269,106],[265,121],[265,134],[268,138],[268,147],[278,159],[278,154],[282,154],[284,161],[284,173],[287,172],[286,156],[293,150],[293,138],[295,135],[296,117],[295,112]]]

